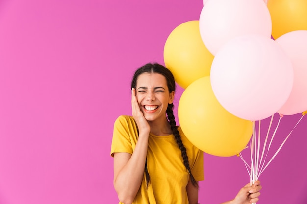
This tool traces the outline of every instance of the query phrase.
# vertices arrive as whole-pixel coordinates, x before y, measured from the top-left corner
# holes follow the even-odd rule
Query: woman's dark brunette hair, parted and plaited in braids
[[[158,74],[163,75],[166,79],[167,87],[168,87],[169,92],[170,93],[172,91],[175,92],[176,84],[175,84],[175,79],[174,79],[172,72],[168,68],[166,68],[163,65],[160,65],[158,63],[153,63],[153,64],[148,63],[148,64],[138,68],[134,73],[134,76],[133,76],[133,79],[132,79],[132,82],[131,82],[131,89],[136,88],[137,79],[138,79],[139,75],[141,75],[143,73],[158,73]],[[178,131],[178,126],[176,126],[176,121],[175,121],[173,109],[174,109],[174,104],[173,103],[168,104],[167,110],[166,110],[167,118],[168,118],[169,123],[171,125],[171,129],[172,129],[173,135],[175,136],[178,147],[181,150],[181,156],[182,156],[182,159],[183,159],[183,164],[190,174],[190,179],[191,179],[192,184],[195,187],[198,188],[197,181],[195,180],[195,178],[193,177],[193,175],[191,173],[191,168],[190,168],[188,156],[186,154],[186,148],[184,147],[184,145],[182,143],[181,136],[180,136],[179,131]],[[149,173],[148,173],[148,170],[147,170],[147,159],[146,159],[146,162],[145,162],[145,174],[146,174],[146,185],[148,187],[149,184],[150,184],[150,176],[149,176]]]

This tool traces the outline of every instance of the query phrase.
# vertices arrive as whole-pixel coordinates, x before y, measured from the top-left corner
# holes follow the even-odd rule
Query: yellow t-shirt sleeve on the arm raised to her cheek
[[[111,144],[111,153],[113,157],[116,152],[127,152],[132,154],[133,145],[131,139],[135,136],[136,130],[134,120],[129,116],[119,116],[114,122],[113,138]]]

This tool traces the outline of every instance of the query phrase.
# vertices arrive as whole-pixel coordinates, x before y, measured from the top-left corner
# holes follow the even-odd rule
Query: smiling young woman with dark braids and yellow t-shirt
[[[116,119],[111,146],[119,204],[197,204],[203,152],[176,126],[172,73],[146,64],[134,73],[131,89],[133,116]],[[247,184],[224,204],[257,202],[260,189],[259,181]]]

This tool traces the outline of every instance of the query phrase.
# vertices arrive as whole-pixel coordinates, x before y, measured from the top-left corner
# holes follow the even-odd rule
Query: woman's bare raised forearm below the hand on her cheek
[[[140,188],[144,177],[147,147],[148,134],[144,134],[144,136],[140,134],[130,159],[114,178],[114,188],[122,202],[129,203],[129,201],[133,201]]]

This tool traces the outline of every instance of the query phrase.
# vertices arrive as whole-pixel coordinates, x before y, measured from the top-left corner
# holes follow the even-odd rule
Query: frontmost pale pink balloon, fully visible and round
[[[234,38],[213,59],[211,85],[220,104],[247,120],[276,113],[293,85],[289,57],[272,39],[260,35]]]

